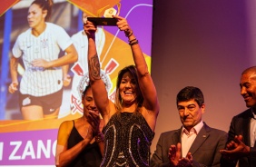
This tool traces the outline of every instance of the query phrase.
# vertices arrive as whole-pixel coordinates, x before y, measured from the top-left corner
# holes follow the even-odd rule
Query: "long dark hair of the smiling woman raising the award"
[[[138,109],[143,105],[144,98],[143,98],[143,93],[141,92],[140,85],[138,82],[137,70],[134,65],[126,66],[118,73],[118,77],[117,77],[117,81],[116,81],[116,91],[115,91],[115,107],[116,107],[117,111],[121,111],[122,107],[123,107],[123,102],[122,102],[122,97],[120,94],[119,86],[121,84],[123,74],[125,74],[126,72],[129,72],[130,74],[132,74],[133,78],[135,79],[136,85],[137,85],[135,91],[137,93],[136,102],[138,103],[136,111],[138,111]]]

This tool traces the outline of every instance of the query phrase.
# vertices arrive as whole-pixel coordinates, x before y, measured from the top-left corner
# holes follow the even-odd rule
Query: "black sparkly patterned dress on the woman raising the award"
[[[154,133],[141,113],[114,113],[103,133],[102,167],[149,166]]]

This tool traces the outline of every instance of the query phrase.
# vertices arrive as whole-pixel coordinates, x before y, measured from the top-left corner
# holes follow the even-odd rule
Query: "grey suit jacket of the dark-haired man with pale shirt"
[[[172,144],[177,145],[182,141],[181,134],[182,128],[161,134],[150,166],[169,166],[169,148]],[[189,150],[192,152],[193,166],[220,166],[222,154],[219,151],[225,148],[227,138],[227,133],[203,123]]]

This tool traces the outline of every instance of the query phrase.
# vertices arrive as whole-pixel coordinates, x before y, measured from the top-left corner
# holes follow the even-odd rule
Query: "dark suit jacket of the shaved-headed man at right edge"
[[[229,137],[228,141],[234,139],[235,135],[242,135],[243,141],[245,145],[251,145],[250,139],[250,124],[251,124],[251,117],[253,117],[251,113],[251,109],[244,111],[232,118]],[[256,131],[256,130],[254,130]],[[223,166],[235,166],[236,162],[230,165],[223,165]],[[240,167],[256,167],[256,148],[251,148],[251,153],[247,157],[242,157],[239,159],[239,166]]]

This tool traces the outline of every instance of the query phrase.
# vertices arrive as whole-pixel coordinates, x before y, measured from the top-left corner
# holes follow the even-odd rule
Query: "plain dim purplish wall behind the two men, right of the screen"
[[[241,72],[255,65],[255,1],[157,0],[153,12],[153,81],[161,106],[152,152],[160,133],[181,127],[176,94],[202,89],[208,125],[229,130],[246,109]]]

